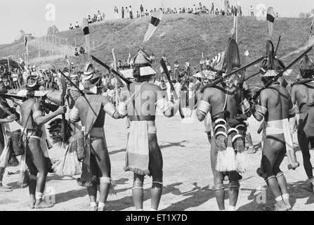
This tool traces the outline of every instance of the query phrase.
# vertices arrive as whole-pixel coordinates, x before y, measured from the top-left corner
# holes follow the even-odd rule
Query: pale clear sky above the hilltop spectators
[[[233,4],[235,0],[229,0]],[[48,27],[56,25],[59,31],[67,30],[70,23],[81,21],[87,15],[93,15],[99,10],[105,13],[106,20],[114,18],[114,8],[132,6],[133,12],[139,11],[140,4],[144,9],[160,8],[190,8],[193,4],[201,2],[209,6],[214,2],[215,8],[221,8],[222,0],[1,0],[0,1],[0,44],[8,44],[20,37],[20,30],[35,37],[46,34]],[[51,9],[55,7],[55,17]],[[249,15],[249,6],[256,8],[258,4],[266,7],[273,6],[281,17],[298,17],[299,13],[307,13],[314,8],[313,0],[240,0],[243,15]],[[46,8],[48,7],[48,8]],[[47,20],[48,15],[48,20]],[[52,20],[51,20],[52,18]]]

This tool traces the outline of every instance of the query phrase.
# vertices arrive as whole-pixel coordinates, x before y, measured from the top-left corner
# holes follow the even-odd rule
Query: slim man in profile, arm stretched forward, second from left
[[[61,106],[54,113],[44,116],[41,101],[34,97],[34,91],[38,91],[39,89],[37,76],[34,77],[31,75],[27,77],[26,86],[28,99],[20,107],[22,126],[24,127],[22,130],[25,145],[24,154],[27,167],[30,170],[30,207],[32,209],[53,207],[53,204],[46,203],[43,199],[49,165],[41,149],[41,126],[57,115],[65,113],[66,108],[65,106]]]

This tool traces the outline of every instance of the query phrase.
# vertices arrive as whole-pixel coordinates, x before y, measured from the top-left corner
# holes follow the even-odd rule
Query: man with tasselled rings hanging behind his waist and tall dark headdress
[[[240,55],[235,39],[229,39],[226,51],[218,54],[211,62],[211,68],[216,70],[218,77],[224,72],[228,74],[240,68]],[[244,155],[244,120],[250,107],[247,99],[243,98],[242,76],[238,73],[216,86],[205,86],[203,95],[198,96],[198,120],[203,121],[205,117],[211,116],[211,169],[219,210],[225,210],[223,180],[230,181],[228,210],[233,211],[240,188],[238,172],[248,169]]]

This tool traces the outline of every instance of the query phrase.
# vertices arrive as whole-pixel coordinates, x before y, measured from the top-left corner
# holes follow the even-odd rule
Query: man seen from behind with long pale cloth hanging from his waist
[[[145,175],[152,176],[151,210],[158,210],[162,196],[163,162],[155,127],[156,106],[166,117],[172,117],[178,111],[180,100],[175,104],[167,101],[160,86],[150,83],[156,72],[151,68],[150,57],[142,47],[133,62],[136,82],[124,86],[119,103],[119,113],[128,115],[130,120],[124,170],[134,174],[132,195],[138,211],[143,211]]]

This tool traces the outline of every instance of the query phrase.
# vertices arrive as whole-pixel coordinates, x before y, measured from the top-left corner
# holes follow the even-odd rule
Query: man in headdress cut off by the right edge
[[[291,100],[299,106],[298,141],[310,189],[314,191],[313,166],[310,163],[310,148],[314,147],[314,65],[308,56],[303,58],[300,72],[300,81],[292,85]]]

